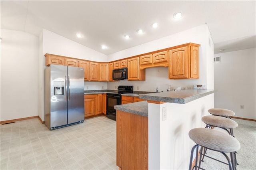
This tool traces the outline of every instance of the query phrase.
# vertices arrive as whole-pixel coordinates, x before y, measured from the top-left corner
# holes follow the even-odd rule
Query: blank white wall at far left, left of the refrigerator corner
[[[38,116],[38,42],[1,29],[1,121]]]

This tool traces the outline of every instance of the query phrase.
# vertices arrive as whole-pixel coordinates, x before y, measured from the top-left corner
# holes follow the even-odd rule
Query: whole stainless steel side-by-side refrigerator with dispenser
[[[44,70],[44,123],[50,129],[84,122],[84,69],[50,65]]]

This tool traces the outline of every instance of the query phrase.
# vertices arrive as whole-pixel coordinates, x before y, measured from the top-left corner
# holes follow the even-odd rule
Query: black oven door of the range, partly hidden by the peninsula
[[[106,116],[110,119],[116,120],[115,105],[121,104],[121,96],[107,95],[107,113]]]

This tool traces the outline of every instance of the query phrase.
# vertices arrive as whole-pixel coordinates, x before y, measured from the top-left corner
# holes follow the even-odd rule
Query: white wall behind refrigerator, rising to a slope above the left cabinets
[[[42,32],[41,43],[42,53],[40,53],[39,55],[39,77],[42,77],[43,79],[39,82],[39,98],[42,99],[39,103],[39,117],[42,119],[42,121],[44,121],[44,69],[46,67],[44,54],[51,53],[66,57],[87,59],[98,62],[107,61],[107,56],[45,29],[43,29]],[[84,84],[85,90],[86,86],[88,86],[88,90],[102,89],[102,86],[104,86],[104,89],[106,89],[107,87],[106,82],[85,82]]]

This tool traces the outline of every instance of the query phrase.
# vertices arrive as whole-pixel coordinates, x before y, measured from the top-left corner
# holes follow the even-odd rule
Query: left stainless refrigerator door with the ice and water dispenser
[[[66,86],[65,76],[67,75],[67,66],[51,65],[50,73],[50,127],[58,127],[67,124],[67,101],[65,100],[66,88],[64,87],[63,95],[54,95],[54,81],[64,82]]]

